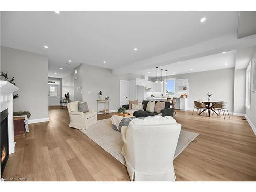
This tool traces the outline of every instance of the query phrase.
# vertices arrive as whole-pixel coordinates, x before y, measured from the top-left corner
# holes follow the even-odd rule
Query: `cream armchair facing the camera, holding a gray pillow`
[[[67,104],[70,118],[69,126],[76,129],[86,130],[88,127],[97,124],[97,113],[94,109],[89,109],[89,112],[85,113],[79,112],[78,103],[78,101],[75,101]]]

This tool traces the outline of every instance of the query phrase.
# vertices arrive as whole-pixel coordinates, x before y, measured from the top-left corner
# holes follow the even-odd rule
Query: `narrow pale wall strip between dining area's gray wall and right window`
[[[245,114],[246,69],[234,70],[234,113]]]

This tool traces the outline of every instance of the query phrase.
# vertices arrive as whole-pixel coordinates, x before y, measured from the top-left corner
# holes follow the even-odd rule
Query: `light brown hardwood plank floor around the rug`
[[[98,120],[111,115],[98,115]],[[51,107],[49,122],[15,138],[3,178],[29,181],[128,181],[126,167],[77,129],[67,109]],[[243,117],[208,118],[177,110],[182,129],[200,135],[174,160],[177,181],[256,181],[256,136]]]

